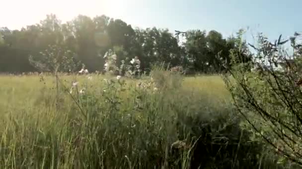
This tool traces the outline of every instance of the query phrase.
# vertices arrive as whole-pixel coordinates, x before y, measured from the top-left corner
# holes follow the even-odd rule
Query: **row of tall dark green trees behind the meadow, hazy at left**
[[[108,16],[90,18],[78,15],[62,23],[55,14],[35,25],[21,30],[0,28],[0,72],[34,72],[37,66],[30,58],[43,60],[54,55],[69,55],[75,63],[84,64],[90,71],[104,71],[107,51],[117,55],[116,66],[137,57],[141,69],[150,71],[151,66],[166,63],[170,67],[183,68],[201,73],[219,73],[230,65],[230,51],[239,52],[242,62],[251,59],[246,42],[236,43],[240,36],[224,38],[215,30],[175,31],[156,27],[141,29]],[[184,41],[179,41],[183,36]],[[50,50],[57,47],[56,50]],[[60,60],[56,60],[60,62]],[[77,67],[81,65],[78,64]],[[59,71],[75,71],[58,68]]]

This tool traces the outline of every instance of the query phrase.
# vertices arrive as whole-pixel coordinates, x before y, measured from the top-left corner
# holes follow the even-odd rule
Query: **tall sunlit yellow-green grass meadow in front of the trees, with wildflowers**
[[[152,78],[1,75],[0,168],[276,169],[220,76]]]

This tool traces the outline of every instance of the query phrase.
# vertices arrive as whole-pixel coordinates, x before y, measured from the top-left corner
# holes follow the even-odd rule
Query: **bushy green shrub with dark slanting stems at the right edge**
[[[238,38],[239,47],[240,41]],[[280,61],[287,61],[287,53],[282,49],[287,41],[281,40],[280,36],[278,41],[271,43],[259,34],[258,46],[251,45],[257,50],[253,60],[247,64],[234,64],[230,69],[232,78],[226,76],[225,82],[235,106],[249,124],[247,127],[257,133],[255,138],[264,139],[282,154],[281,161],[285,158],[302,165],[302,94],[296,84],[301,77],[301,58],[295,54],[297,68],[283,71],[276,68]],[[293,47],[300,48],[299,45]],[[238,58],[238,55],[231,52],[231,57]],[[251,66],[257,69],[251,71]]]

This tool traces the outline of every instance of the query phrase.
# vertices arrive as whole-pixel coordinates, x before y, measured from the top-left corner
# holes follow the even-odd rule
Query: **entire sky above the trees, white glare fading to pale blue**
[[[302,31],[302,0],[1,0],[0,27],[20,29],[54,13],[63,22],[78,14],[105,14],[133,27],[216,30],[227,37],[249,28],[245,39],[263,32],[270,40]]]

